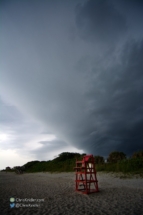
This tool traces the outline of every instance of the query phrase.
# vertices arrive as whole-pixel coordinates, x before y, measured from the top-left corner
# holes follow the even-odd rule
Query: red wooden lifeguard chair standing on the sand
[[[76,161],[76,191],[83,194],[98,192],[95,162],[93,155],[86,155],[82,161]]]

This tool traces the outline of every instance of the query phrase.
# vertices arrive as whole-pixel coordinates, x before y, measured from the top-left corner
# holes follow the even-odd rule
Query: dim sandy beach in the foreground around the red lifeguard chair
[[[98,193],[75,192],[74,173],[0,173],[1,215],[141,215],[143,179],[97,174]],[[10,208],[10,198],[17,204]]]

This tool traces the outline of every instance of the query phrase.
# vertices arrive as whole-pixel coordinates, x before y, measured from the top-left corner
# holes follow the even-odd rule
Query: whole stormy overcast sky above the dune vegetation
[[[0,169],[143,149],[143,1],[1,0]]]

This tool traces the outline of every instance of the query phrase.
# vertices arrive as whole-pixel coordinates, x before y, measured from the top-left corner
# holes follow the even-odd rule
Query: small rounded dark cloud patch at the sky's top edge
[[[83,39],[117,42],[126,31],[126,19],[112,1],[89,0],[76,8],[76,23]]]

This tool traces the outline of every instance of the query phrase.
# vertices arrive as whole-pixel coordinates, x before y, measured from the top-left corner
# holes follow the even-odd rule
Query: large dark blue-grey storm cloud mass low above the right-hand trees
[[[95,121],[95,133],[89,136],[88,143],[97,148],[95,151],[102,149],[107,154],[111,147],[131,153],[136,146],[142,148],[142,56],[143,42],[133,42],[123,49],[120,64],[100,74],[94,69],[95,79],[88,98],[94,105],[90,107],[90,114]]]

